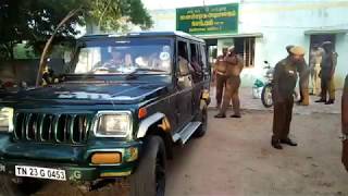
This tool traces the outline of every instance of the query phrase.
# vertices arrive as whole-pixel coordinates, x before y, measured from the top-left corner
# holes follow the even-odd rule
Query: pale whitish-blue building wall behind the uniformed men
[[[197,1],[196,1],[197,2]],[[207,3],[208,2],[208,3]],[[219,3],[232,1],[220,0]],[[215,1],[206,0],[207,4]],[[186,3],[187,7],[202,5]],[[184,1],[177,7],[186,7]],[[153,29],[175,29],[175,8],[166,10],[152,10],[154,20]],[[239,34],[262,33],[262,38],[256,39],[256,68],[243,72],[244,86],[251,86],[256,78],[263,76],[263,61],[275,65],[277,61],[287,56],[285,47],[300,45],[306,48],[307,61],[309,59],[310,36],[304,35],[311,29],[348,29],[348,2],[334,0],[311,1],[274,1],[274,0],[243,0],[239,1]],[[217,41],[221,53],[223,41]],[[338,64],[336,84],[343,86],[343,79],[348,73],[345,62],[348,60],[348,38],[346,34],[336,35],[336,51]]]

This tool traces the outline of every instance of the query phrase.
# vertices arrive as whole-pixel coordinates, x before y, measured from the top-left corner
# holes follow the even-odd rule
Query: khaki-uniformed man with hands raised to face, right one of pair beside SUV
[[[240,118],[240,102],[239,102],[239,86],[240,86],[240,72],[244,63],[241,57],[237,56],[235,48],[229,48],[229,53],[224,58],[227,62],[226,69],[226,90],[224,94],[224,100],[219,114],[215,118],[226,118],[226,110],[232,99],[234,114],[231,118]]]

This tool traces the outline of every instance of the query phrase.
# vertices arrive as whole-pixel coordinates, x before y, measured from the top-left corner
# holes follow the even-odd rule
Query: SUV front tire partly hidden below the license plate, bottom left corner
[[[35,179],[21,179],[15,183],[11,176],[0,175],[0,196],[25,196],[36,193],[42,182]]]

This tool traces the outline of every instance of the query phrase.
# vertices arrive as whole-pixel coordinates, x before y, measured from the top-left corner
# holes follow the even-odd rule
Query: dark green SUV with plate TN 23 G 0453
[[[59,83],[0,98],[2,195],[30,181],[126,179],[164,195],[174,145],[207,130],[203,40],[179,32],[85,36]]]

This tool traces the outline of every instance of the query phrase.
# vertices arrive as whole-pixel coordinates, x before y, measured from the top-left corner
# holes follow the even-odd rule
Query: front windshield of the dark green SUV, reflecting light
[[[87,41],[76,54],[73,74],[128,74],[136,70],[141,74],[171,73],[170,39]]]

